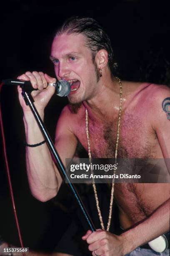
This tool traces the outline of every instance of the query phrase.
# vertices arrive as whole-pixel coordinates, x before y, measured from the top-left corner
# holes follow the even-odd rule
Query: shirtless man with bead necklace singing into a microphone
[[[85,108],[89,115],[92,157],[114,158],[120,87],[112,74],[114,61],[109,38],[95,20],[70,20],[57,31],[50,59],[57,79],[65,79],[72,84],[68,95],[70,103],[74,109],[79,105],[77,111],[72,111],[73,107],[67,105],[58,120],[55,146],[63,163],[65,158],[74,156],[77,141],[87,150]],[[56,82],[56,79],[42,72],[26,72],[18,79],[30,80],[32,87],[39,89],[33,91],[32,96],[43,119],[44,108],[55,92],[55,88],[47,87],[47,83]],[[170,89],[162,85],[126,81],[122,81],[122,87],[118,157],[170,158],[170,120],[162,109],[163,100],[170,97]],[[44,138],[30,108],[25,105],[20,87],[18,92],[27,143],[40,143]],[[62,179],[47,145],[27,147],[26,160],[32,195],[42,202],[55,197]],[[88,230],[82,239],[89,244],[92,255],[126,255],[168,232],[169,193],[167,183],[115,184],[114,198],[120,210],[120,224],[128,231],[116,236],[105,230],[94,233]],[[148,251],[139,253],[153,255]],[[168,255],[167,250],[164,253],[161,255]]]

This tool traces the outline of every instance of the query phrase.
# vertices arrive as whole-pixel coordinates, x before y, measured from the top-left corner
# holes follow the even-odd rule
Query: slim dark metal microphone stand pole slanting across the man
[[[89,225],[90,229],[92,230],[92,232],[94,232],[96,229],[95,229],[95,226],[94,224],[92,223],[92,220],[90,219],[90,216],[88,215],[88,212],[87,210],[85,209],[85,206],[83,205],[83,202],[80,198],[80,196],[78,195],[76,189],[75,189],[75,186],[70,182],[70,179],[69,177],[67,176],[67,173],[65,172],[65,166],[63,165],[61,159],[60,159],[60,156],[58,155],[57,153],[57,150],[52,142],[52,139],[50,138],[46,128],[45,128],[45,125],[44,123],[42,122],[42,119],[40,118],[40,115],[39,113],[37,112],[37,109],[35,108],[35,105],[33,104],[34,102],[34,99],[32,98],[31,94],[29,92],[26,92],[25,91],[25,87],[23,85],[20,85],[20,87],[22,87],[22,95],[23,95],[23,98],[25,100],[25,103],[26,105],[29,105],[30,106],[30,109],[32,110],[32,113],[37,121],[37,124],[40,128],[40,131],[42,132],[42,135],[44,136],[45,140],[46,140],[46,143],[53,155],[53,157],[55,158],[55,161],[56,161],[56,164],[57,164],[57,168],[60,172],[60,174],[63,175],[63,177],[66,179],[67,183],[68,183],[68,186],[70,187],[73,195],[75,196],[75,199],[77,200],[77,203],[85,217],[85,220],[87,221],[87,224]]]

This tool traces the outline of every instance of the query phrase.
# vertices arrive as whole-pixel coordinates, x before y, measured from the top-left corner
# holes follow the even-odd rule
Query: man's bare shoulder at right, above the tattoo
[[[149,82],[126,82],[123,90],[127,95],[127,109],[133,108],[134,113],[140,113],[140,117],[154,123],[154,126],[156,121],[162,122],[166,118],[163,106],[169,104],[166,108],[170,108],[168,86]]]

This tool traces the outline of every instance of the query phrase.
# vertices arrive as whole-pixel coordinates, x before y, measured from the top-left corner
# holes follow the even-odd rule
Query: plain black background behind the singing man
[[[169,85],[168,2],[1,1],[0,80],[15,78],[28,70],[55,76],[49,60],[53,34],[66,18],[85,15],[98,20],[109,34],[121,79]],[[52,138],[57,118],[66,103],[67,99],[54,96],[45,110],[45,124]],[[15,87],[2,88],[1,104],[7,156],[24,244],[50,250],[69,222],[67,214],[57,206],[58,199],[42,203],[30,193],[25,169],[23,114]],[[0,158],[0,234],[6,241],[19,245],[3,156]]]

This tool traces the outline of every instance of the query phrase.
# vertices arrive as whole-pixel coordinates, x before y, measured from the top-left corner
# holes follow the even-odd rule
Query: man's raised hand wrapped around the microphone
[[[17,78],[24,81],[30,81],[32,87],[38,89],[36,91],[32,91],[31,95],[35,100],[35,107],[37,108],[37,110],[44,111],[47,103],[55,92],[55,87],[47,86],[47,83],[55,83],[56,79],[48,76],[47,74],[36,71],[32,73],[28,71],[25,74],[18,76]],[[30,107],[25,104],[25,100],[23,99],[21,92],[22,89],[20,88],[20,86],[18,86],[19,100],[23,111],[30,111]]]

